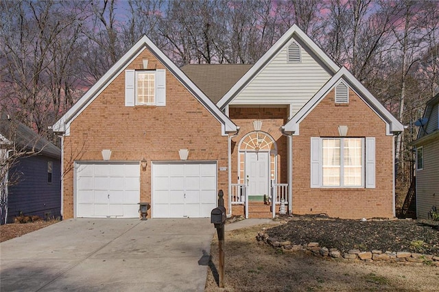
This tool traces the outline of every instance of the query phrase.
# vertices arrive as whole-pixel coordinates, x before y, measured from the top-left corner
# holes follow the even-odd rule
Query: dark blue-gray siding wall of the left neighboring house
[[[47,182],[47,161],[53,162],[52,182]],[[8,193],[8,222],[16,215],[38,215],[46,212],[59,217],[61,209],[60,159],[47,156],[22,158],[10,170],[10,178],[16,181]]]

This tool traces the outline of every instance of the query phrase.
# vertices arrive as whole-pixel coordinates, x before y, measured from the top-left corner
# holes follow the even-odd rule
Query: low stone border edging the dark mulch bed
[[[311,242],[307,245],[294,245],[291,241],[278,241],[276,237],[269,237],[265,233],[265,228],[258,232],[257,241],[267,243],[272,247],[283,250],[283,252],[305,252],[314,256],[322,256],[329,258],[343,258],[345,260],[361,260],[365,263],[373,261],[390,261],[398,262],[406,265],[435,265],[439,267],[439,256],[431,256],[429,254],[418,254],[415,252],[382,252],[381,250],[372,250],[370,252],[361,252],[360,250],[348,250],[341,253],[336,248],[320,247],[318,243]]]

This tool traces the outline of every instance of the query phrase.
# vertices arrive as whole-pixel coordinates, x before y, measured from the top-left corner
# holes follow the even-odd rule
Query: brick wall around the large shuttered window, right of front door
[[[310,188],[311,137],[339,137],[339,125],[348,126],[346,137],[375,137],[375,188]],[[385,122],[353,90],[343,106],[334,103],[334,90],[328,93],[293,137],[293,212],[351,219],[393,217],[393,137],[385,133]]]

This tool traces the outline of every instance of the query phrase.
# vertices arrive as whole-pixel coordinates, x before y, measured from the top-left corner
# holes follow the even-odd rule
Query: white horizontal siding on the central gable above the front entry
[[[331,75],[302,46],[299,46],[301,62],[287,62],[290,44],[288,42],[230,104],[291,104],[291,117],[296,114]]]

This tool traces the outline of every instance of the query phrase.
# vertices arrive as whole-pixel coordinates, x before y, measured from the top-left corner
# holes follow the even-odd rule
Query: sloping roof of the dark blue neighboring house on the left
[[[15,143],[16,146],[22,149],[40,152],[40,154],[53,158],[61,158],[61,149],[36,134],[34,130],[23,123],[11,119],[5,113],[1,114],[0,122],[0,138],[2,143]]]

